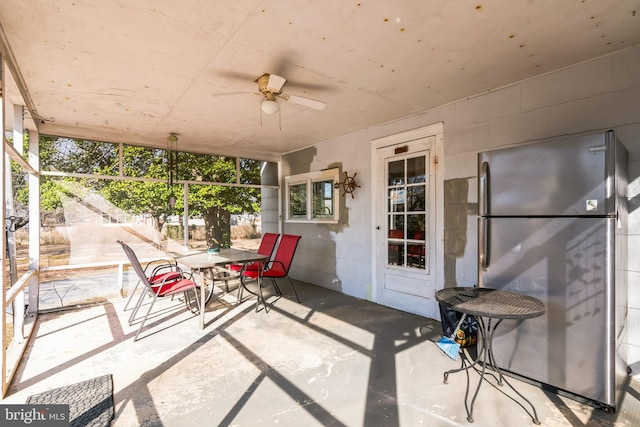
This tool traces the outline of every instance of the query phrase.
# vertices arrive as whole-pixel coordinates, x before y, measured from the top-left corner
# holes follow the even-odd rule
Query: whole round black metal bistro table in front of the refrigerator
[[[492,341],[493,334],[498,325],[504,319],[530,319],[533,317],[542,316],[545,312],[544,304],[537,298],[520,294],[517,292],[506,291],[503,289],[492,288],[475,288],[475,287],[456,287],[445,288],[436,292],[436,300],[443,306],[460,313],[466,313],[467,315],[475,316],[478,320],[478,330],[481,335],[481,348],[478,355],[469,365],[465,366],[464,358],[462,361],[462,367],[459,369],[452,369],[444,373],[444,383],[447,383],[449,374],[466,371],[467,372],[467,390],[465,393],[465,409],[467,410],[467,421],[473,422],[473,405],[480,391],[480,386],[483,381],[488,381],[485,377],[487,368],[494,371],[497,376],[491,375],[496,379],[497,385],[507,384],[522,400],[527,402],[533,414],[531,414],[527,408],[518,402],[514,397],[505,393],[503,390],[498,390],[509,397],[516,403],[518,403],[531,417],[534,424],[540,424],[538,421],[538,414],[533,404],[524,397],[513,385],[511,385],[507,379],[502,375],[502,371],[498,368],[493,357]],[[482,369],[477,368],[477,364],[482,365]],[[473,368],[480,375],[478,386],[475,393],[471,398],[469,404],[469,369]],[[492,384],[493,385],[493,384]]]

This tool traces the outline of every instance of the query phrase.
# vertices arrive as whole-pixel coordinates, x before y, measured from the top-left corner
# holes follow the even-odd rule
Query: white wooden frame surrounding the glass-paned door
[[[379,176],[384,171],[380,171],[377,161],[378,150],[385,147],[391,147],[395,145],[404,145],[408,142],[415,141],[417,139],[423,139],[427,137],[435,137],[435,150],[433,153],[433,163],[431,167],[434,171],[434,183],[433,191],[435,191],[435,235],[431,238],[431,244],[435,251],[435,265],[433,271],[434,289],[442,289],[444,287],[444,150],[443,150],[443,130],[444,124],[442,122],[435,123],[429,126],[424,126],[408,131],[388,135],[382,138],[373,139],[371,141],[371,183],[374,187],[375,177]],[[378,234],[382,233],[386,227],[379,218],[380,204],[383,200],[380,200],[380,192],[378,189],[373,188],[371,191],[371,278],[372,278],[372,301],[380,303],[380,286],[382,281],[377,277],[378,271],[378,259],[376,256],[376,244],[378,242]],[[439,318],[437,313],[437,303],[435,302],[435,295],[429,297],[433,300],[433,304],[426,307],[420,314],[433,319]]]

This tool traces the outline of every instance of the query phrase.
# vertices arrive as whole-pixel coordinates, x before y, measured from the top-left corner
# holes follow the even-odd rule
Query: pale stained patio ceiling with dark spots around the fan
[[[3,0],[0,23],[41,133],[273,157],[637,45],[640,1]],[[265,72],[326,108],[261,123]]]

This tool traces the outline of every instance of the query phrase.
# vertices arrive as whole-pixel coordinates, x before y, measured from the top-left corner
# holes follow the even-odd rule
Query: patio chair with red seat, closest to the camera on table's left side
[[[180,272],[179,279],[176,279],[173,276],[166,276],[163,280],[159,282],[155,282],[152,285],[151,281],[149,280],[149,277],[147,277],[147,275],[145,274],[145,271],[142,268],[142,265],[140,265],[140,261],[138,260],[138,257],[133,251],[133,249],[131,249],[129,245],[127,245],[126,243],[120,240],[118,240],[118,243],[122,246],[122,249],[124,250],[124,253],[127,255],[127,258],[129,259],[129,262],[131,263],[131,266],[133,267],[134,271],[138,275],[140,282],[144,285],[143,295],[138,300],[136,307],[133,309],[133,313],[131,313],[131,317],[129,318],[129,324],[133,324],[135,320],[135,316],[140,310],[140,307],[142,306],[142,301],[144,300],[144,297],[145,296],[153,297],[153,300],[151,301],[151,303],[149,304],[149,308],[147,309],[147,313],[142,319],[142,322],[140,322],[140,327],[138,328],[138,332],[136,333],[136,336],[133,338],[134,341],[138,340],[138,337],[140,336],[140,332],[144,327],[144,323],[147,321],[147,318],[151,313],[151,309],[153,308],[153,305],[155,304],[158,298],[173,296],[173,295],[182,293],[184,294],[184,301],[185,301],[185,305],[187,306],[187,309],[192,310],[187,292],[190,290],[193,290],[193,293],[196,299],[196,305],[199,307],[198,285],[191,277],[191,273]]]

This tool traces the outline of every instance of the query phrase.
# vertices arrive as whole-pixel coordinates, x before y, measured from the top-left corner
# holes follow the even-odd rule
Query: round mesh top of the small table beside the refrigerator
[[[539,299],[504,289],[445,288],[436,292],[436,300],[461,313],[497,319],[529,319],[545,312]]]

